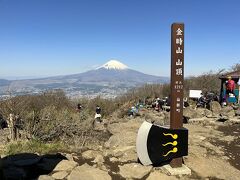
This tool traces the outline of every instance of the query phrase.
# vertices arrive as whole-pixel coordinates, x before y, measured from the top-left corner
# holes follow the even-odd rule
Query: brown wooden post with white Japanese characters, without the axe
[[[171,31],[170,128],[180,129],[183,126],[184,24],[172,24]],[[182,158],[173,159],[170,165],[172,167],[182,166]]]

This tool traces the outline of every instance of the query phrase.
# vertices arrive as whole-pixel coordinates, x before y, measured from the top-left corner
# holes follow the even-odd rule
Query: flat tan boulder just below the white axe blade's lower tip
[[[125,164],[118,167],[120,175],[125,179],[143,179],[152,170],[152,166],[143,166],[137,163]]]

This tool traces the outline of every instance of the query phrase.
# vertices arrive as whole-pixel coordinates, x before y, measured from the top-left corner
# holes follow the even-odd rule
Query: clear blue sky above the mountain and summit
[[[117,59],[170,76],[171,24],[185,75],[240,63],[239,0],[0,0],[0,78],[80,73]]]

